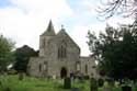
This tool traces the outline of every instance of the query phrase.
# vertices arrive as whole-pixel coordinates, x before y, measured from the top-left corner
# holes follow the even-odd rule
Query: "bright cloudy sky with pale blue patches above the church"
[[[46,31],[49,20],[55,32],[61,25],[81,48],[81,56],[89,56],[87,34],[90,30],[104,31],[106,23],[130,23],[132,19],[114,16],[99,21],[95,9],[100,0],[0,0],[0,34],[15,42],[15,47],[39,47],[39,35]]]

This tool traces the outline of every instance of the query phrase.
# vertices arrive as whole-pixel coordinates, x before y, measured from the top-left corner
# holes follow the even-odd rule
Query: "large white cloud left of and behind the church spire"
[[[0,33],[15,41],[18,47],[27,44],[38,49],[38,37],[48,21],[60,23],[72,15],[65,0],[10,0],[10,3],[0,9]]]

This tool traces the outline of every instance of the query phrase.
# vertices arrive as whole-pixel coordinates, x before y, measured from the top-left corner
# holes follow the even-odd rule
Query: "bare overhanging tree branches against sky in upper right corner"
[[[137,0],[101,0],[96,9],[99,15],[109,19],[113,15],[130,16],[137,15]]]

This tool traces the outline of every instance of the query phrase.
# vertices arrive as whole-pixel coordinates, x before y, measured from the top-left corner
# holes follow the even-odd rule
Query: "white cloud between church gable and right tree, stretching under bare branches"
[[[87,44],[88,41],[88,31],[95,32],[96,35],[99,35],[100,32],[104,32],[106,24],[110,24],[111,26],[118,27],[119,24],[132,24],[133,19],[123,19],[123,18],[114,18],[110,19],[104,22],[98,22],[98,23],[91,23],[88,25],[80,25],[76,24],[73,30],[71,31],[70,35],[73,38],[73,41],[79,45],[81,48],[81,55],[82,56],[89,56],[91,52],[89,50],[89,46]]]

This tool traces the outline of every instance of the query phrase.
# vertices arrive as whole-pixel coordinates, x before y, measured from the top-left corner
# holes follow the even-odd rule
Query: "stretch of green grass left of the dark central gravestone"
[[[11,91],[68,91],[62,89],[61,80],[48,80],[25,77],[19,80],[18,76],[0,76],[0,91],[10,88]]]

